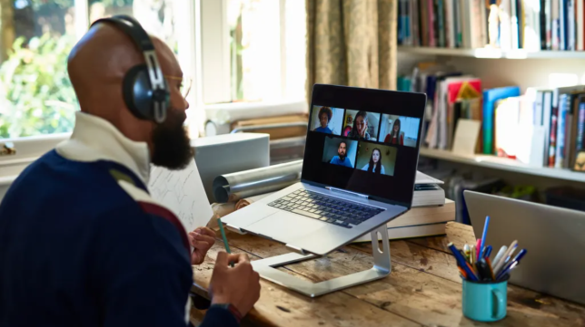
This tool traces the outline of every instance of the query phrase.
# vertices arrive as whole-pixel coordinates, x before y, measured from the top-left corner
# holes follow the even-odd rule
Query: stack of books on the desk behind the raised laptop
[[[447,222],[455,220],[455,202],[445,198],[445,192],[439,187],[443,182],[417,171],[416,187],[411,210],[392,219],[388,227],[389,239],[437,236],[445,234]],[[370,242],[370,233],[353,241]]]

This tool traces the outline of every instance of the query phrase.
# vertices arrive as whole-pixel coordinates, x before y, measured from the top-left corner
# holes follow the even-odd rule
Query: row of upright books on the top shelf
[[[582,0],[400,0],[398,43],[584,51]]]

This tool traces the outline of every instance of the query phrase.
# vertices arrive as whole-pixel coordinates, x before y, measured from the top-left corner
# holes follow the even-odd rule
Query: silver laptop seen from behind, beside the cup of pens
[[[585,304],[585,213],[471,191],[463,197],[476,237],[490,216],[492,255],[513,240],[527,250],[511,272],[512,284]]]

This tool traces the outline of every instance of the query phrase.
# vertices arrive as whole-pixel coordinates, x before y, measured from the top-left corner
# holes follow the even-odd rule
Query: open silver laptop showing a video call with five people
[[[326,255],[410,209],[426,96],[316,84],[302,181],[223,217]]]

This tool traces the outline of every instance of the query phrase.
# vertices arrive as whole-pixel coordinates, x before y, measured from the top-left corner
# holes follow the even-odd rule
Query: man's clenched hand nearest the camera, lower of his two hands
[[[230,263],[235,266],[228,267]],[[217,254],[209,293],[213,304],[232,304],[246,315],[260,298],[260,275],[253,271],[248,255]]]

